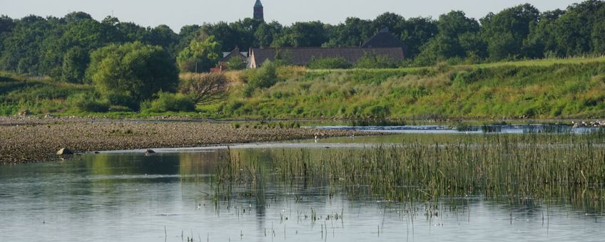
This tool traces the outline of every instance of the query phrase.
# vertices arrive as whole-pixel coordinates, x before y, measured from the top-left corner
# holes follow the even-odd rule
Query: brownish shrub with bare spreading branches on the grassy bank
[[[181,76],[181,93],[197,104],[214,102],[225,97],[229,81],[220,73],[187,73]]]

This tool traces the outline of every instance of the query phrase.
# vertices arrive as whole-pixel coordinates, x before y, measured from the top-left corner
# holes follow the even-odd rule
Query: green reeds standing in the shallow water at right
[[[250,196],[262,193],[259,184],[271,179],[337,187],[353,199],[484,196],[594,207],[604,201],[604,141],[602,130],[432,139],[410,135],[400,144],[368,149],[283,149],[263,157],[231,151],[218,165],[215,181],[225,197],[233,185],[248,187]]]

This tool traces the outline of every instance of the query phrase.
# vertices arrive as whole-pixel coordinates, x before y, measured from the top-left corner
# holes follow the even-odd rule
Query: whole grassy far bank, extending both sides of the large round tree
[[[225,100],[196,112],[83,111],[91,85],[4,73],[0,115],[213,118],[562,119],[605,117],[605,58],[547,59],[427,68],[305,70],[278,68],[270,88],[251,88],[231,72]],[[94,102],[92,102],[94,104]],[[121,111],[121,112],[116,112]]]

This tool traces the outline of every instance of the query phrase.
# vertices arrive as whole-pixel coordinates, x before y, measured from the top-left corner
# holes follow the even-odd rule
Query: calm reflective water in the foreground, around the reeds
[[[397,136],[252,144],[274,154],[362,149]],[[367,148],[367,147],[366,147]],[[561,199],[510,204],[480,196],[436,203],[352,198],[338,181],[283,182],[214,199],[224,147],[87,154],[63,162],[0,166],[0,241],[602,241],[604,211]],[[233,154],[232,154],[233,155]],[[603,206],[600,206],[601,208]],[[432,216],[431,216],[432,214]],[[313,218],[316,219],[313,219]]]

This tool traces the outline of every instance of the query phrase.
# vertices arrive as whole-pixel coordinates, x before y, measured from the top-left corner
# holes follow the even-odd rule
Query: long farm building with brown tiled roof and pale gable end
[[[360,47],[287,47],[287,48],[250,48],[250,68],[258,68],[263,62],[275,61],[275,56],[285,56],[293,65],[308,65],[314,58],[344,58],[350,64],[355,64],[366,53],[388,56],[393,61],[403,61],[405,44],[382,29]]]

